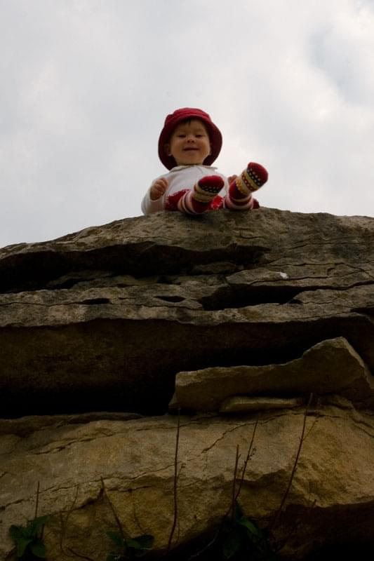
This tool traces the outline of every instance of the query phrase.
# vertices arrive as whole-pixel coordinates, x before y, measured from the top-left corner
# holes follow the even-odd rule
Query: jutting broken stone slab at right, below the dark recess
[[[211,367],[179,372],[173,409],[218,411],[234,396],[315,396],[337,393],[356,407],[374,408],[374,377],[343,339],[323,341],[290,363]]]

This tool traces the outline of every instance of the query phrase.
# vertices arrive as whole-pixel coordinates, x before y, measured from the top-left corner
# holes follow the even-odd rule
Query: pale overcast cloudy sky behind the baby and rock
[[[0,0],[0,247],[141,214],[200,107],[260,204],[374,216],[374,0]]]

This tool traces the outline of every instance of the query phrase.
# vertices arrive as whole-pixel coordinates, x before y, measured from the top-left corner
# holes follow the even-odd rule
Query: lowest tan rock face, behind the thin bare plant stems
[[[239,500],[248,517],[260,525],[271,522],[293,469],[304,415],[305,407],[255,417],[182,416],[173,546],[219,525],[231,501],[236,447],[240,473],[255,419]],[[51,515],[44,532],[48,560],[67,561],[68,548],[105,559],[105,532],[116,531],[116,523],[101,480],[128,532],[151,533],[154,550],[165,550],[173,525],[177,417],[67,420],[54,428],[40,422],[27,437],[20,419],[9,422],[8,434],[0,437],[1,559],[12,548],[8,527],[34,516],[38,482],[38,513]],[[373,437],[373,415],[333,406],[309,410],[298,468],[274,528],[281,540],[298,521],[283,555],[301,559],[316,541],[373,543]],[[62,527],[66,555],[60,550]]]

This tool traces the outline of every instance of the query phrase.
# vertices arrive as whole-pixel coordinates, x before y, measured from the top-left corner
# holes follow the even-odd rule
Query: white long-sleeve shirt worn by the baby
[[[206,175],[219,175],[222,177],[222,180],[225,181],[225,186],[218,194],[220,196],[225,196],[225,192],[227,192],[227,188],[229,187],[229,182],[225,175],[218,173],[217,168],[213,168],[211,165],[177,165],[168,173],[160,175],[152,182],[153,185],[154,182],[161,179],[161,177],[165,177],[168,182],[168,188],[163,196],[158,198],[156,201],[152,201],[149,196],[152,185],[149,187],[142,200],[143,214],[150,215],[152,212],[164,210],[165,201],[169,195],[176,193],[177,191],[182,191],[182,189],[192,189],[194,184],[201,180],[201,177],[205,177]]]

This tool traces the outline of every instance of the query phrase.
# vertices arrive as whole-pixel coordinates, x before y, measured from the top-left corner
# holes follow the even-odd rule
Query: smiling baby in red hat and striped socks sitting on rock
[[[159,158],[170,172],[149,187],[142,212],[180,210],[197,215],[220,208],[258,208],[252,193],[267,182],[267,170],[251,162],[239,177],[225,177],[211,167],[221,147],[220,130],[201,109],[185,107],[168,115],[159,137]]]

